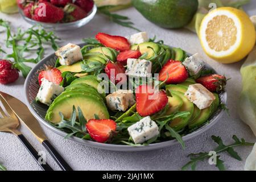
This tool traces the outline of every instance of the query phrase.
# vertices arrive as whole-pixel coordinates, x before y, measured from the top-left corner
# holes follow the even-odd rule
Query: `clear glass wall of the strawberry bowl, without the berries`
[[[89,23],[90,20],[92,20],[95,14],[97,13],[97,6],[94,5],[93,9],[88,13],[88,15],[85,18],[77,20],[76,22],[70,22],[70,23],[43,23],[43,22],[38,22],[33,19],[27,18],[21,9],[19,9],[19,13],[22,15],[24,20],[26,20],[26,22],[32,25],[40,24],[42,27],[48,30],[66,31],[66,30],[75,30],[76,28],[80,28],[85,24]]]

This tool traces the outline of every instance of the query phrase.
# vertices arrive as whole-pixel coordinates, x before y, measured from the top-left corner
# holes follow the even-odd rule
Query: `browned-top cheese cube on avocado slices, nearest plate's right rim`
[[[199,109],[209,107],[216,99],[213,93],[201,84],[189,85],[184,96],[187,97],[189,101],[193,102]]]

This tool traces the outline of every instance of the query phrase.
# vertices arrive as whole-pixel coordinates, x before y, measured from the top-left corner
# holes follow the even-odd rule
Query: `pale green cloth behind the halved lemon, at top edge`
[[[197,34],[199,32],[201,22],[204,16],[209,12],[209,10],[212,10],[214,7],[224,7],[224,6],[242,9],[242,6],[249,3],[250,0],[199,0],[198,2],[199,2],[199,9],[197,10],[197,13],[194,15],[191,23],[189,23],[188,26],[186,26],[188,30],[196,32]],[[209,7],[209,5],[211,6]]]

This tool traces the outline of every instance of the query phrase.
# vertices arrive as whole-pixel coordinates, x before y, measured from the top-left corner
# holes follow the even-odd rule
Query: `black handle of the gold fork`
[[[40,167],[44,171],[53,171],[53,169],[47,164],[42,164],[39,162],[40,156],[38,155],[38,152],[35,150],[35,148],[28,142],[28,140],[24,137],[24,135],[20,134],[17,136],[20,140],[20,142],[23,143],[24,147],[27,148],[27,150],[30,152],[30,154],[33,156],[33,158],[36,160],[36,162],[40,165]]]

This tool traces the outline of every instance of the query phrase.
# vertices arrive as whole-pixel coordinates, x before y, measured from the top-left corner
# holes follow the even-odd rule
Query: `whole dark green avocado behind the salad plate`
[[[150,22],[164,28],[186,26],[198,8],[197,0],[132,0],[133,6]]]

